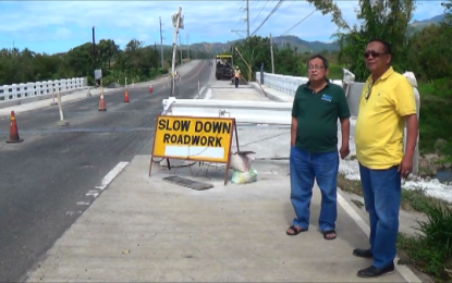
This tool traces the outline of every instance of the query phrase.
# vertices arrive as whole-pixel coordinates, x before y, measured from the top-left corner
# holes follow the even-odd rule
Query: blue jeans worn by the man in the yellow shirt
[[[383,268],[395,258],[402,180],[398,167],[372,170],[359,164],[364,202],[370,219],[374,266]]]

